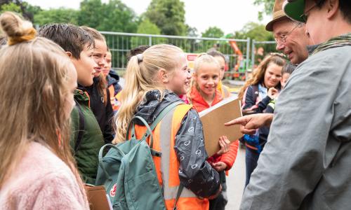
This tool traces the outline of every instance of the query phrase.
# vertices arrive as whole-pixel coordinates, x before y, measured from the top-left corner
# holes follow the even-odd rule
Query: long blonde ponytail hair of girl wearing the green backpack
[[[147,92],[157,89],[161,92],[160,100],[163,99],[164,87],[159,84],[157,73],[159,69],[173,73],[182,53],[183,50],[176,46],[163,44],[153,45],[143,54],[131,57],[126,69],[126,85],[121,91],[121,107],[114,118],[116,137],[113,144],[124,141],[128,123]]]

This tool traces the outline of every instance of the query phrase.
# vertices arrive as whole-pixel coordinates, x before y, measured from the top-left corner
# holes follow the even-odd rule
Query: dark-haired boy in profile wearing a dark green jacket
[[[86,31],[69,24],[44,25],[39,29],[39,36],[60,45],[77,70],[79,88],[74,92],[76,106],[71,113],[71,146],[82,179],[95,184],[98,153],[104,141],[98,121],[89,107],[88,93],[80,88],[93,85],[96,66],[93,60],[94,39]]]

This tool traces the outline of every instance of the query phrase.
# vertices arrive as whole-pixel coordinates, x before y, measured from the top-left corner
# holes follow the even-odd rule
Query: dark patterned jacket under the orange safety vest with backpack
[[[157,118],[159,113],[169,104],[174,102],[183,102],[173,92],[166,90],[164,99],[159,101],[159,90],[152,90],[146,94],[145,100],[138,106],[135,116],[140,116],[151,124]],[[189,134],[187,132],[190,127],[194,127],[194,132]],[[220,185],[220,178],[218,172],[206,162],[207,153],[204,147],[204,134],[202,132],[202,124],[199,119],[197,111],[190,109],[187,115],[182,120],[182,125],[176,135],[176,154],[180,161],[179,179],[180,183],[192,190],[193,193],[199,197],[209,197],[214,195]],[[190,144],[185,142],[189,141]],[[200,151],[201,155],[198,155]],[[184,159],[183,159],[184,158]],[[197,165],[197,169],[192,169],[193,165]],[[192,182],[189,182],[189,180]]]

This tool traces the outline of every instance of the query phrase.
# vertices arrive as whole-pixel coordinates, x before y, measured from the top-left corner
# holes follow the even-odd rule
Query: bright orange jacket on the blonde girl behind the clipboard
[[[197,90],[196,87],[192,87],[192,92],[190,94],[190,99],[192,102],[192,106],[194,109],[197,110],[197,112],[204,111],[205,109],[210,108],[210,106],[207,104],[207,102],[204,100],[204,98],[201,96],[199,91]],[[219,90],[216,90],[215,98],[213,99],[213,102],[211,106],[217,104],[218,102],[222,101],[223,97],[222,94],[220,93]],[[232,168],[234,165],[235,159],[237,158],[237,151],[239,148],[239,141],[233,141],[230,144],[230,151],[227,153],[224,153],[223,155],[212,155],[210,158],[207,159],[208,162],[224,162],[227,165],[227,169],[229,170]]]

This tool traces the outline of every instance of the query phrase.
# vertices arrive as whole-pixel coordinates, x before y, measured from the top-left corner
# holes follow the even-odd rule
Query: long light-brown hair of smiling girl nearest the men
[[[267,55],[265,59],[257,66],[255,69],[252,78],[246,80],[246,83],[243,87],[241,87],[238,98],[242,100],[244,97],[244,93],[250,85],[258,85],[263,84],[265,81],[265,71],[267,70],[270,64],[277,64],[278,66],[284,66],[285,59],[283,55],[279,55],[277,53],[272,53],[272,55]],[[264,84],[263,84],[264,85]],[[280,83],[278,83],[277,87],[280,89]]]

